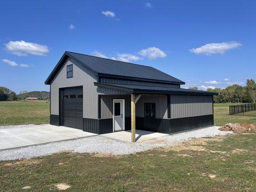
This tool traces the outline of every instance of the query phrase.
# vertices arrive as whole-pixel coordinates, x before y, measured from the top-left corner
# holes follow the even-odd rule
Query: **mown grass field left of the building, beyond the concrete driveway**
[[[0,125],[49,123],[49,102],[0,101]]]

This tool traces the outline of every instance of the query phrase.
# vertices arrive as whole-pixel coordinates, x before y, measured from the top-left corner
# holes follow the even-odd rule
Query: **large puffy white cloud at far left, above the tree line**
[[[10,41],[5,44],[5,49],[18,56],[27,56],[27,54],[43,56],[49,52],[49,48],[46,45],[25,41]]]

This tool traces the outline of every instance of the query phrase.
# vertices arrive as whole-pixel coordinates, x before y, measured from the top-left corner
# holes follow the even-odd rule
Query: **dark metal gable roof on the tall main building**
[[[163,83],[185,84],[183,81],[172,77],[169,74],[161,72],[153,67],[123,62],[119,60],[110,60],[70,51],[66,51],[63,54],[61,60],[50,73],[45,84],[50,83],[52,78],[61,68],[63,61],[66,60],[67,57],[71,57],[80,61],[86,68],[96,72],[98,76],[112,76],[116,78],[132,78],[141,80],[143,79],[144,81],[155,80]]]

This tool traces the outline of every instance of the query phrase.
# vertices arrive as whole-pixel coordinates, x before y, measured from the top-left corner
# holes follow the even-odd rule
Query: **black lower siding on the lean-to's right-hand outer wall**
[[[213,115],[178,118],[170,120],[170,133],[183,132],[214,125]]]

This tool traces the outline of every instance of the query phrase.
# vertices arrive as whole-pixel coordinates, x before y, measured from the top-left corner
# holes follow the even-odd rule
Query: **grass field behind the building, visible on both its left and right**
[[[233,122],[256,122],[256,111],[251,115],[229,115],[232,103],[214,104],[214,122],[217,126]],[[49,102],[46,101],[1,101],[0,126],[49,123]]]

